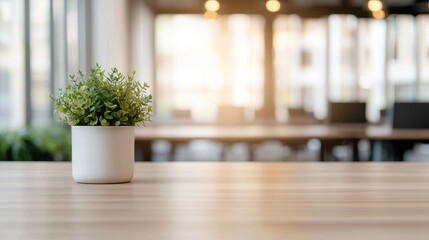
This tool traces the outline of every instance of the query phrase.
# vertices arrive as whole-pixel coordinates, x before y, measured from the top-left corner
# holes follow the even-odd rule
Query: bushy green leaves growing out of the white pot
[[[85,79],[81,71],[71,75],[71,84],[52,96],[60,120],[70,125],[135,126],[151,120],[152,95],[132,75],[125,76],[116,68],[105,73],[99,64],[90,69]]]

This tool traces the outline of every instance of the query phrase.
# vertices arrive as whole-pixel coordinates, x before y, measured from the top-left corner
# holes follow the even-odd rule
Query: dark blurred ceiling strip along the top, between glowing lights
[[[205,0],[144,0],[157,14],[201,14]],[[265,0],[219,0],[220,14],[268,14]],[[320,17],[329,14],[353,14],[368,17],[367,0],[280,0],[281,14],[298,14],[303,17]],[[383,0],[389,14],[429,13],[429,0]]]

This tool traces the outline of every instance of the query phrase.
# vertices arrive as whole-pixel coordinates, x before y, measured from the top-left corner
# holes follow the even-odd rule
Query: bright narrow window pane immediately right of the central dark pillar
[[[314,41],[318,39],[318,41]],[[276,113],[305,108],[326,116],[326,20],[279,16],[274,21]]]

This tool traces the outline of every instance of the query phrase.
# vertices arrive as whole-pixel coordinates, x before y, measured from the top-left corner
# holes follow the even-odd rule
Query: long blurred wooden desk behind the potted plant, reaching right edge
[[[145,161],[152,159],[152,141],[192,141],[213,140],[219,142],[258,143],[266,140],[282,142],[319,139],[321,141],[320,160],[325,160],[324,147],[329,141],[354,141],[354,160],[357,160],[357,141],[368,140],[429,140],[429,129],[392,129],[389,126],[373,125],[190,125],[190,126],[150,126],[136,128],[136,144]]]

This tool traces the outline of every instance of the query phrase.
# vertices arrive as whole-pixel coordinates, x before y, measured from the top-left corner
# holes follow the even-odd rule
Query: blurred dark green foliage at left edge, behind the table
[[[69,128],[52,126],[0,133],[0,160],[69,161],[70,159]]]

